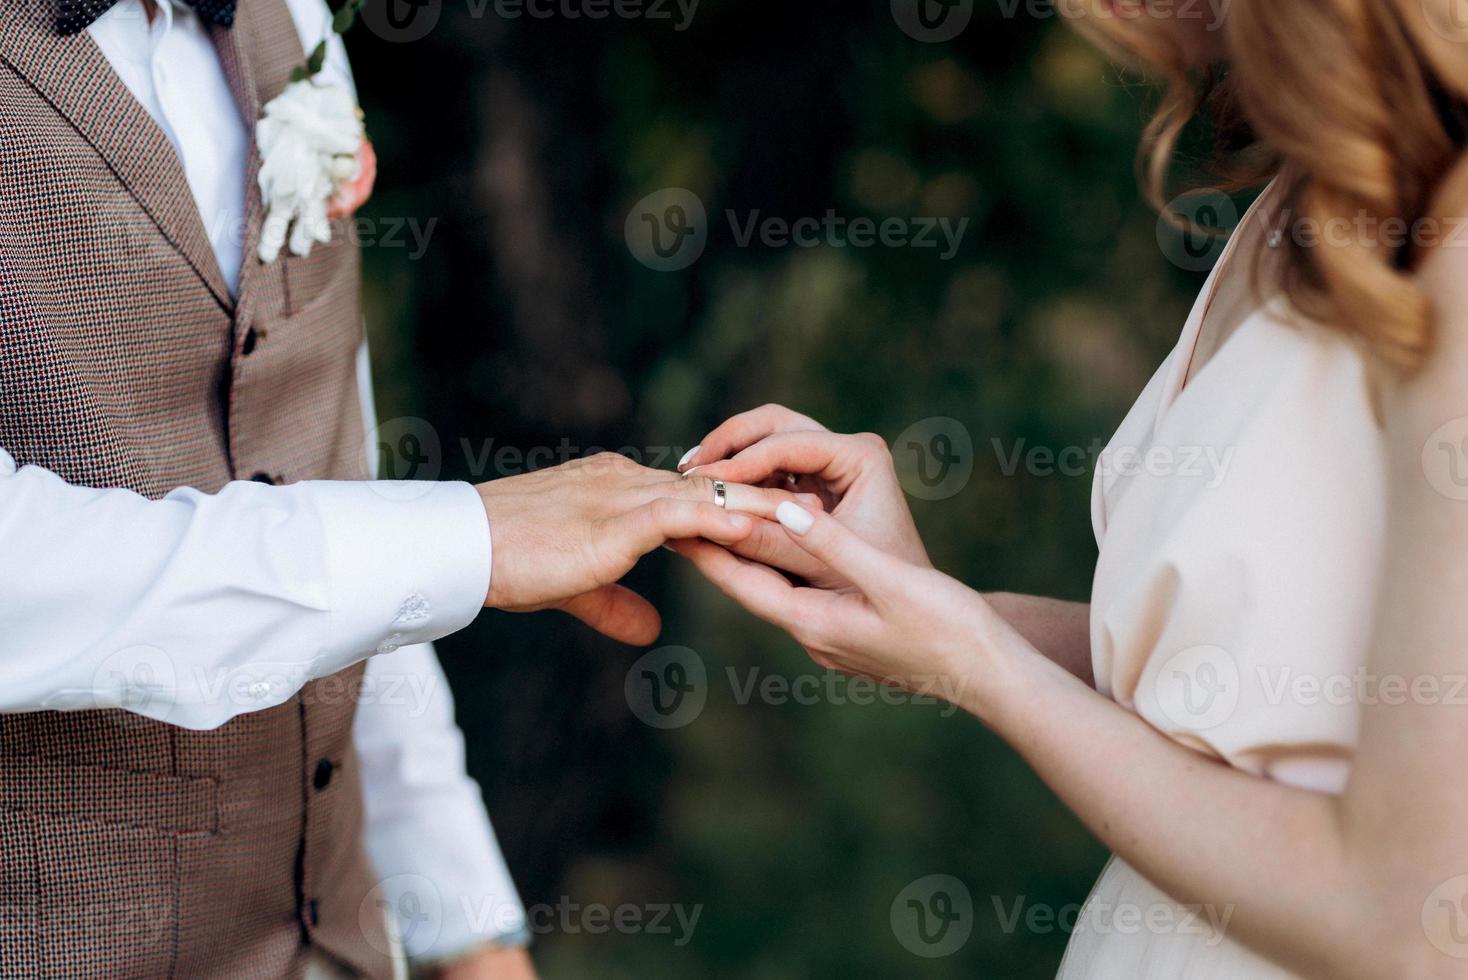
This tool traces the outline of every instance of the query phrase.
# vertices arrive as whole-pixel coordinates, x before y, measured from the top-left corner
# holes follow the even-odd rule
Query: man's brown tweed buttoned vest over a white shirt
[[[219,216],[198,213],[95,43],[59,37],[53,15],[0,10],[0,446],[150,497],[364,478],[345,226],[261,266],[255,158],[236,304],[204,230]],[[304,60],[289,12],[241,0],[214,41],[252,129]],[[311,946],[386,976],[349,731],[360,676],[211,732],[120,710],[0,716],[0,976],[294,976]]]

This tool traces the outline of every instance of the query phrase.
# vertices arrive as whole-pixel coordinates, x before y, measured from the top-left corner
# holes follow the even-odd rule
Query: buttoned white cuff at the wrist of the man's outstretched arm
[[[326,672],[462,629],[489,594],[489,518],[467,483],[305,483],[332,603]]]

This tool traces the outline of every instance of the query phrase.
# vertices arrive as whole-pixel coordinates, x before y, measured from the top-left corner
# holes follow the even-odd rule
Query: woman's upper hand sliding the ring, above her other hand
[[[734,453],[731,459],[724,459]],[[699,461],[713,461],[697,465]],[[735,415],[705,436],[686,472],[730,483],[780,486],[818,494],[831,515],[862,540],[912,565],[931,568],[879,436],[841,436],[780,405]],[[796,477],[788,483],[785,475]],[[849,588],[837,569],[797,547],[780,527],[759,524],[733,546],[743,556],[780,568],[821,588]]]

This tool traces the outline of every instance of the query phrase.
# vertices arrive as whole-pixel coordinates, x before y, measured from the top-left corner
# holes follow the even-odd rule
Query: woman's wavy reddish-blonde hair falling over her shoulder
[[[1433,304],[1414,268],[1468,202],[1468,3],[1464,0],[1067,0],[1083,34],[1164,82],[1139,172],[1166,210],[1179,136],[1213,129],[1210,182],[1279,179],[1282,213],[1314,227],[1378,233],[1305,242],[1284,235],[1270,286],[1305,317],[1346,332],[1406,374],[1433,349]],[[1166,16],[1221,18],[1226,62],[1189,66]],[[1169,13],[1171,12],[1171,13]],[[1456,18],[1456,19],[1455,19]],[[1456,205],[1458,211],[1449,211]],[[1402,229],[1403,235],[1381,233]],[[1445,230],[1446,229],[1446,230]],[[1461,244],[1468,245],[1468,238]]]

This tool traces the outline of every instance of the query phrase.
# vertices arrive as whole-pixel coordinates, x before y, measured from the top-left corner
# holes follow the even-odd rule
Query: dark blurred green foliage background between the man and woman
[[[684,31],[443,0],[423,40],[354,32],[382,156],[370,216],[436,220],[421,258],[367,249],[382,415],[427,420],[461,478],[496,475],[461,440],[681,453],[771,401],[887,439],[951,417],[973,475],[912,500],[935,563],[1083,599],[1089,477],[1004,458],[1104,443],[1198,283],[1135,188],[1148,92],[1010,6],[982,0],[947,44],[907,37],[885,0],[705,0]],[[624,222],[672,186],[713,230],[659,273]],[[970,224],[948,261],[741,248],[731,208]],[[633,582],[665,612],[662,643],[708,665],[683,729],[637,722],[637,654],[567,619],[484,616],[442,644],[527,902],[702,907],[683,946],[556,929],[537,943],[548,977],[1054,974],[1064,932],[1006,932],[998,910],[1080,902],[1104,851],[1011,751],[934,706],[740,704],[730,668],[816,670],[671,556]],[[888,915],[932,873],[967,885],[975,926],[923,959]]]

